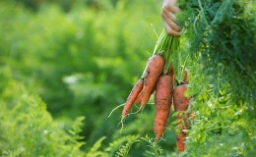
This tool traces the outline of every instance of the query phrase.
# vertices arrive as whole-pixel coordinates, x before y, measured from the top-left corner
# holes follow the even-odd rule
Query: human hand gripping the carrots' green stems
[[[167,34],[179,36],[181,28],[176,24],[175,14],[180,11],[176,6],[177,0],[164,0],[161,9],[161,18]]]

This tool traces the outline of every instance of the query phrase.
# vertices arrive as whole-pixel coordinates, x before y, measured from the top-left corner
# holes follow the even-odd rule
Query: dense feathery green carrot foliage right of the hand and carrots
[[[183,31],[173,62],[190,72],[187,94],[193,97],[190,110],[196,112],[184,156],[253,156],[256,3],[179,2]]]

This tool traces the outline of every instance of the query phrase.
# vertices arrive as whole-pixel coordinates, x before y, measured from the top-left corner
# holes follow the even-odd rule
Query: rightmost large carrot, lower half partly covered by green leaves
[[[188,130],[188,122],[187,117],[184,114],[184,111],[187,110],[189,105],[189,98],[184,95],[187,90],[188,85],[182,84],[178,85],[174,88],[173,91],[173,103],[174,103],[174,112],[179,112],[179,114],[175,117],[177,123],[177,137],[176,137],[176,145],[179,152],[185,150],[185,138],[187,133],[184,130]]]

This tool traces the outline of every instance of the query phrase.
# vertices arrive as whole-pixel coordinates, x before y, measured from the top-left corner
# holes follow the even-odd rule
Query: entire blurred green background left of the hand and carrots
[[[121,108],[108,115],[154,49],[161,3],[1,0],[0,156],[113,156],[130,134],[154,137],[152,105],[122,131]],[[160,143],[166,153],[175,149],[169,132]]]

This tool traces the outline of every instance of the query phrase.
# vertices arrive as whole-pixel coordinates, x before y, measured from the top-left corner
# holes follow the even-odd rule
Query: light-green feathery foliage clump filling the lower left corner
[[[66,124],[52,120],[38,96],[13,79],[10,69],[1,70],[0,155],[84,156],[78,141],[83,118],[66,130]]]

